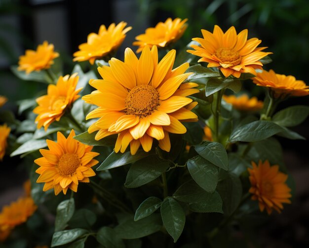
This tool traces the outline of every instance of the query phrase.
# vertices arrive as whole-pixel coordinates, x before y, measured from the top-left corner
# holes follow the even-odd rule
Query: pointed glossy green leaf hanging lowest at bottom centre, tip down
[[[166,231],[174,239],[174,243],[179,239],[184,230],[186,214],[177,200],[168,197],[161,205],[161,217]]]

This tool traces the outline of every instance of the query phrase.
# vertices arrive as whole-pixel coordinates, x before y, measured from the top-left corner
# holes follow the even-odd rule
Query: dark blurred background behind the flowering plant
[[[132,46],[135,36],[167,17],[189,19],[188,29],[176,44],[179,48],[193,37],[201,37],[200,29],[212,31],[215,24],[224,32],[232,25],[237,33],[247,28],[249,38],[261,39],[260,46],[273,52],[273,62],[265,66],[267,70],[293,75],[309,84],[308,0],[0,0],[0,95],[9,99],[4,108],[16,113],[16,101],[45,89],[39,83],[20,81],[10,72],[10,65],[17,64],[26,49],[36,49],[44,40],[54,44],[67,74],[74,65],[73,52],[86,42],[89,33],[97,33],[101,24],[126,21],[133,27],[119,49],[121,58],[125,47],[136,50]],[[265,95],[250,82],[244,84],[244,89],[261,99]],[[278,109],[308,105],[308,100],[309,97],[292,98]],[[309,120],[293,130],[308,139]],[[285,205],[281,215],[273,214],[268,225],[259,229],[258,240],[261,247],[309,247],[309,142],[280,142],[286,166],[295,179],[296,197],[292,205]],[[12,181],[7,175],[16,164],[4,160],[0,167],[1,206],[8,203],[8,198],[16,198],[12,192],[21,190],[19,186],[27,176],[20,171],[20,182]],[[13,190],[3,191],[4,188]]]

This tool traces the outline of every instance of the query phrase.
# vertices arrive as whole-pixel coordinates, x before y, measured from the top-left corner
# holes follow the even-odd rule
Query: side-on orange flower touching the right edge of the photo
[[[268,87],[274,98],[287,96],[303,97],[309,95],[309,86],[302,80],[296,80],[293,76],[276,74],[273,70],[262,71],[253,78],[253,83],[258,86]]]

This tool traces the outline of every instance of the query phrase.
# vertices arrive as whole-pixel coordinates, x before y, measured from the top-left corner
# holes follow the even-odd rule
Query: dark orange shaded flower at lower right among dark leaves
[[[251,163],[252,169],[248,168],[251,183],[249,192],[253,195],[251,199],[259,201],[261,212],[266,208],[268,214],[273,209],[280,213],[282,203],[291,203],[291,189],[285,183],[288,176],[279,172],[278,165],[270,166],[268,160],[264,163],[260,160],[259,165]]]

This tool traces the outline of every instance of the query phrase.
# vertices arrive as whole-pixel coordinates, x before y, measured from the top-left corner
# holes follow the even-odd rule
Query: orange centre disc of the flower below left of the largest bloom
[[[76,154],[63,154],[58,162],[59,174],[62,176],[73,175],[77,167],[80,165],[80,159]]]

